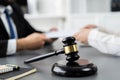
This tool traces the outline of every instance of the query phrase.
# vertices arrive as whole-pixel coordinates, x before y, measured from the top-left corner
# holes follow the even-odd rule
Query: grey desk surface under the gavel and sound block
[[[97,74],[82,78],[68,78],[55,76],[51,72],[52,65],[59,60],[64,60],[64,54],[53,56],[34,63],[24,64],[24,60],[38,55],[46,54],[54,50],[62,48],[62,43],[56,41],[53,45],[46,46],[37,51],[23,51],[15,56],[0,58],[1,64],[11,63],[18,64],[22,67],[35,67],[38,71],[34,74],[21,78],[20,80],[120,80],[120,57],[102,54],[91,47],[79,47],[79,55],[81,58],[88,59],[95,63],[98,67]]]

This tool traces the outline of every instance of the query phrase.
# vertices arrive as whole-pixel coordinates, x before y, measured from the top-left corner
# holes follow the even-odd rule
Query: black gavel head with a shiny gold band
[[[77,44],[75,43],[75,38],[66,37],[63,39],[62,42],[64,43],[63,47],[64,47],[65,55],[67,56],[66,60],[69,62],[78,60],[79,59],[79,55],[77,54],[78,47]]]

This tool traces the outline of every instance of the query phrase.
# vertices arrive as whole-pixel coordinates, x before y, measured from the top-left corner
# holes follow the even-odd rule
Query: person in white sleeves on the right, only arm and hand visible
[[[115,31],[108,33],[108,30],[104,29],[102,31],[96,29],[96,27],[96,25],[87,25],[76,33],[74,37],[77,41],[89,44],[103,53],[120,56],[120,34],[116,34]]]

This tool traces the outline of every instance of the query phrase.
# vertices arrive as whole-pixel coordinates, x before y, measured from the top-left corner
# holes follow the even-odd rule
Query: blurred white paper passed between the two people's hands
[[[57,31],[57,32],[47,32],[45,33],[47,38],[63,38],[68,36],[73,36],[76,32],[75,31]]]

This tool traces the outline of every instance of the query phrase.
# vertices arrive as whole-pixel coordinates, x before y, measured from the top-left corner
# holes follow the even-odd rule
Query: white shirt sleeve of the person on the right
[[[103,53],[120,56],[120,36],[118,35],[93,29],[88,36],[88,43]]]

